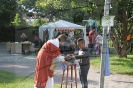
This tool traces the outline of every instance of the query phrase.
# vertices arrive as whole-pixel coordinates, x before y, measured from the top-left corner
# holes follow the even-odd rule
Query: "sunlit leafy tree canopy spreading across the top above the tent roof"
[[[94,0],[95,1],[95,0]],[[89,0],[20,0],[26,9],[43,14],[50,20],[64,19],[82,23],[84,17],[93,12],[93,2]],[[30,7],[31,6],[31,7]],[[79,18],[80,17],[80,18]]]

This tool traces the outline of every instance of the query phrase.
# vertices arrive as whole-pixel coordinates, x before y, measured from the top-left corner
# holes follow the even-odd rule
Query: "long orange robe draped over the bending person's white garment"
[[[60,55],[60,49],[50,42],[43,45],[37,56],[34,83],[37,88],[45,88],[48,77],[53,77],[54,72],[49,70],[54,58]]]

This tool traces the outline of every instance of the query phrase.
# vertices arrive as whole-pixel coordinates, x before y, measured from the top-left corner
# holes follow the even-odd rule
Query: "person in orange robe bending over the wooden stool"
[[[65,61],[65,57],[61,55],[59,49],[59,45],[64,44],[66,39],[66,35],[59,35],[57,39],[47,41],[38,52],[34,88],[53,88],[54,71],[51,71],[49,68],[54,60],[72,65],[72,63]]]

